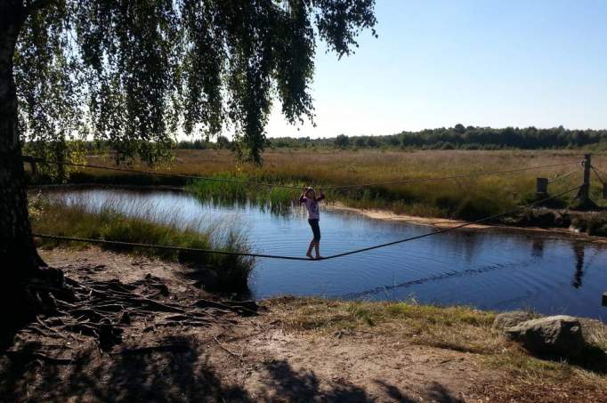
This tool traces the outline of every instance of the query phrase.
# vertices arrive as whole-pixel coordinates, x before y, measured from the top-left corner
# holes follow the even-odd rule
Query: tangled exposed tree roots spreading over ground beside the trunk
[[[31,343],[16,341],[11,349],[4,351],[5,355],[11,359],[66,365],[69,359],[61,354],[53,357],[44,351],[45,346],[52,345],[52,340],[59,339],[67,344],[95,343],[104,352],[122,343],[125,326],[134,321],[145,324],[144,332],[174,326],[205,327],[230,314],[255,315],[258,309],[255,302],[198,300],[180,304],[171,301],[166,284],[150,274],[130,284],[117,279],[77,282],[62,276],[61,283],[35,281],[28,285],[32,298],[45,310],[23,329],[24,334],[42,335],[49,343],[41,346],[43,350],[32,350]],[[119,353],[138,354],[163,349],[179,350],[179,346],[145,347]]]

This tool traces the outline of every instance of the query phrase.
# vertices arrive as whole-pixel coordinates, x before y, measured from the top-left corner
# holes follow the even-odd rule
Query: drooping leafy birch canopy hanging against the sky
[[[32,0],[14,54],[22,141],[70,139],[153,163],[176,133],[234,133],[260,163],[272,100],[313,120],[317,40],[338,57],[373,30],[375,0]]]

